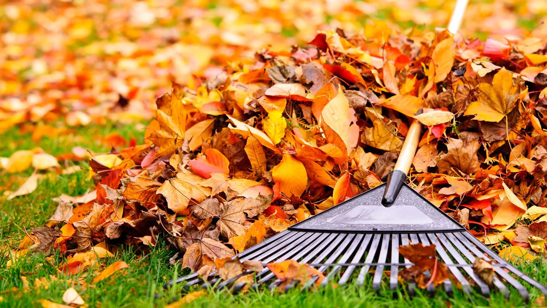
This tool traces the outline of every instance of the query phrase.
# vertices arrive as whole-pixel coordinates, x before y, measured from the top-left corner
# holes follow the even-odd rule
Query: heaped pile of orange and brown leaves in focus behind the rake
[[[94,264],[90,252],[146,250],[164,233],[180,251],[173,262],[224,269],[235,253],[380,185],[412,118],[423,137],[410,185],[507,258],[536,258],[547,238],[545,52],[536,38],[379,26],[265,50],[196,79],[197,90],[173,83],[144,144],[93,155],[91,198],[59,198],[46,225],[11,247],[13,261],[59,249],[72,256],[63,270],[78,272]],[[271,268],[282,276],[295,266]]]

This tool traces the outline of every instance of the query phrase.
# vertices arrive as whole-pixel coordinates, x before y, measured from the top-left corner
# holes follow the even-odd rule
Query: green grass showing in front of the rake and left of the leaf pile
[[[12,129],[4,134],[0,146],[0,156],[9,156],[16,150],[33,149],[42,147],[44,151],[60,155],[70,152],[73,146],[82,146],[95,152],[107,152],[109,146],[98,142],[108,133],[117,132],[127,140],[136,138],[142,140],[143,132],[136,125],[112,124],[106,126],[91,125],[90,127],[77,128],[72,133],[60,136],[58,139],[43,138],[37,143],[33,142],[30,134],[21,133],[18,129]],[[95,136],[95,137],[94,137]],[[0,187],[3,190],[15,190],[21,182],[30,175],[32,170],[21,174],[3,174],[0,176]],[[51,199],[66,193],[71,196],[82,195],[93,189],[92,181],[88,180],[87,172],[77,172],[69,175],[57,174],[51,170],[45,173],[44,179],[38,182],[38,188],[30,195],[20,196],[11,201],[0,197],[0,244],[7,241],[19,240],[25,236],[24,227],[41,226],[51,214],[56,203]],[[56,272],[50,266],[44,255],[31,254],[21,258],[12,267],[5,267],[8,261],[0,252],[0,307],[37,307],[38,300],[46,299],[54,303],[62,303],[62,294],[72,286],[70,280],[82,278],[90,283],[94,273],[84,271],[81,277],[67,277]],[[166,291],[162,285],[180,277],[188,272],[179,266],[169,264],[169,259],[176,252],[167,246],[166,241],[159,241],[156,247],[148,252],[135,252],[130,247],[121,247],[114,258],[101,259],[103,266],[112,264],[117,260],[124,260],[129,268],[87,288],[75,286],[80,295],[89,304],[89,307],[164,307],[173,300],[181,298],[181,286],[175,286]],[[59,265],[65,261],[64,256],[58,252],[53,256],[54,263]],[[547,268],[543,261],[532,264],[519,265],[525,273],[542,283],[547,283]],[[48,288],[34,287],[36,278],[48,278]],[[27,277],[30,288],[24,289],[21,276]],[[370,275],[369,275],[370,276]],[[369,277],[370,278],[370,277]],[[12,288],[18,288],[7,292]],[[492,294],[490,299],[475,294],[467,296],[461,290],[456,290],[453,297],[440,291],[434,296],[427,293],[409,296],[404,288],[398,292],[391,292],[387,286],[382,286],[379,294],[374,292],[370,281],[365,286],[356,288],[336,288],[330,285],[327,288],[311,293],[301,293],[299,290],[290,292],[250,292],[246,295],[231,295],[229,292],[210,292],[199,298],[188,307],[521,307],[526,306],[515,290],[511,289],[511,297],[505,300],[498,293]],[[540,296],[539,291],[529,288],[532,292],[532,303]],[[158,299],[154,296],[159,294]]]

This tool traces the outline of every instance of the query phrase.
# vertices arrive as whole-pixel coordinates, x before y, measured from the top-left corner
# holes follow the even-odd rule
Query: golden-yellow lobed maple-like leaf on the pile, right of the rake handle
[[[514,84],[513,75],[504,68],[494,75],[492,84],[479,83],[477,100],[471,102],[463,113],[475,115],[479,121],[499,122],[516,106],[519,100],[519,85]]]

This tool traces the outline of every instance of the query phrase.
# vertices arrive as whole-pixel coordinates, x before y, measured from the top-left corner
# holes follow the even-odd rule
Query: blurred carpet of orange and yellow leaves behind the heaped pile
[[[225,65],[252,58],[260,48],[284,50],[317,30],[364,27],[369,37],[377,27],[392,26],[373,16],[408,27],[446,26],[455,3],[10,1],[0,7],[0,132],[25,122],[55,132],[59,120],[85,126],[148,119],[171,79],[195,90],[197,79],[222,75]],[[462,33],[544,37],[546,13],[543,0],[472,2]]]

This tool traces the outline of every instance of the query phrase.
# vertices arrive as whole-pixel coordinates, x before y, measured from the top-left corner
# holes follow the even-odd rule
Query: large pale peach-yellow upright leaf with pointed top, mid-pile
[[[356,124],[355,111],[353,108],[350,108],[350,102],[344,95],[341,86],[339,86],[338,94],[335,98],[331,99],[323,108],[321,116],[324,123],[333,129],[342,141],[344,141],[347,153],[350,153],[357,146],[359,127]]]

